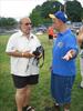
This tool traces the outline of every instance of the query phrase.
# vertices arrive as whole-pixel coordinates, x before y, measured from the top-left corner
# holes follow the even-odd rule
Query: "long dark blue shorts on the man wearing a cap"
[[[55,102],[65,104],[71,102],[71,91],[74,82],[73,77],[61,77],[51,74],[51,92]]]

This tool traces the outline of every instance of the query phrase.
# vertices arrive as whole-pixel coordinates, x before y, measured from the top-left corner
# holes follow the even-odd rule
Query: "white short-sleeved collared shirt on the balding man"
[[[28,39],[19,31],[10,37],[6,52],[13,52],[15,50],[33,52],[40,46],[41,43],[34,34],[31,33]],[[39,74],[37,62],[34,58],[17,58],[11,56],[11,73],[21,77]]]

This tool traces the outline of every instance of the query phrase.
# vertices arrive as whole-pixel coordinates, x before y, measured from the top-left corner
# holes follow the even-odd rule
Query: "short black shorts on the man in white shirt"
[[[12,74],[13,83],[17,89],[24,88],[28,84],[37,84],[39,82],[39,74],[28,75],[28,77],[19,77]]]

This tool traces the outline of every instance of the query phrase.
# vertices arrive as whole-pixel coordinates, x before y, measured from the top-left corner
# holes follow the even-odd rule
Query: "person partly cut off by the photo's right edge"
[[[83,26],[80,28],[79,34],[77,34],[77,41],[80,46],[80,68],[81,68],[81,84],[80,88],[83,89]]]

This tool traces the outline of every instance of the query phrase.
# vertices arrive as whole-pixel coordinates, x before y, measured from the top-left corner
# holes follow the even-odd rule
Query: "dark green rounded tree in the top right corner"
[[[66,2],[66,13],[71,21],[81,21],[82,17],[82,6],[79,1],[68,1]]]

